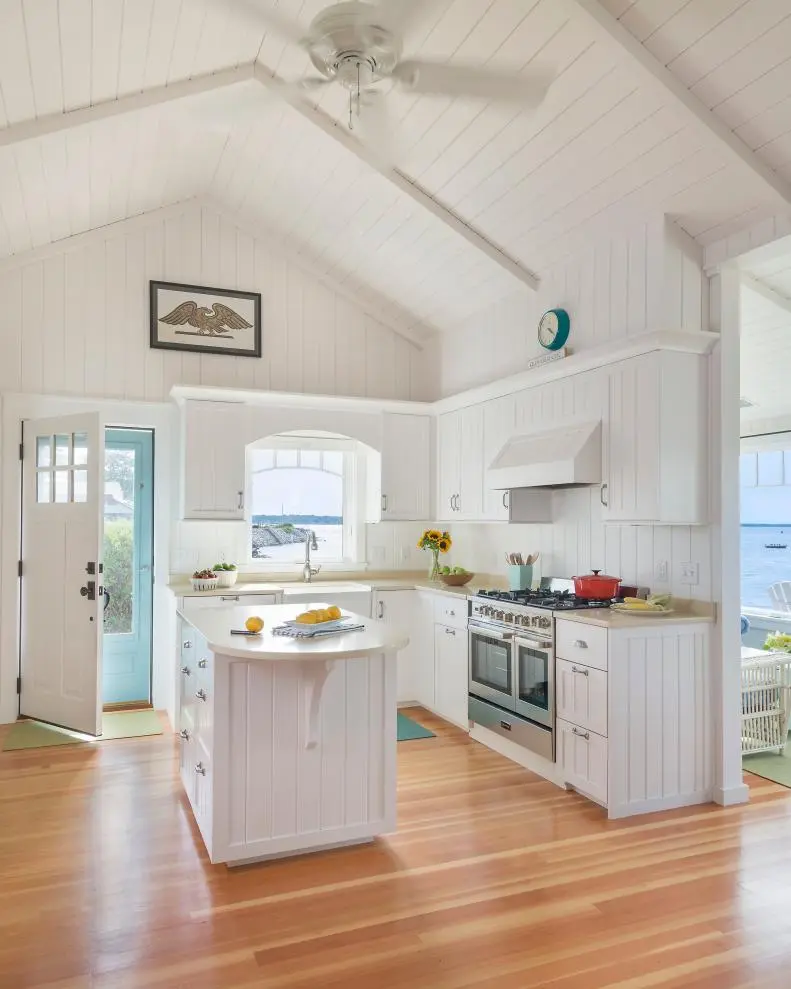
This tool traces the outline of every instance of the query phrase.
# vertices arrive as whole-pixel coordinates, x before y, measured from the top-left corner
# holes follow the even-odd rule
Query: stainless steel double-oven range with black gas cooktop
[[[552,761],[554,615],[611,603],[575,598],[572,588],[547,578],[536,591],[479,590],[468,620],[470,720]]]

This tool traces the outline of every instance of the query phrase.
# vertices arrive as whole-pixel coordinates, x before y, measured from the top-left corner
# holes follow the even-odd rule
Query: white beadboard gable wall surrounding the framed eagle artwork
[[[261,292],[263,357],[150,349],[149,279]],[[2,262],[0,297],[3,392],[161,401],[189,384],[431,397],[411,341],[205,204]]]

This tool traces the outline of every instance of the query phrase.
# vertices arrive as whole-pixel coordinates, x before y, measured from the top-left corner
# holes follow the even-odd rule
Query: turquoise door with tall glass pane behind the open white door
[[[151,700],[154,434],[107,429],[104,470],[104,704]]]

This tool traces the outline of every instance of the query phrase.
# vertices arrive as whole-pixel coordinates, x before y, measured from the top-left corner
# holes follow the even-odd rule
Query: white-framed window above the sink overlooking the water
[[[356,558],[353,444],[282,439],[250,450],[247,465],[253,562],[302,563],[310,533],[311,561]]]

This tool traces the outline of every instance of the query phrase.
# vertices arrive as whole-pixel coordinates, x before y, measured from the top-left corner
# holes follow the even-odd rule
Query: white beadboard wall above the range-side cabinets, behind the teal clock
[[[596,241],[540,274],[538,292],[515,292],[441,338],[443,396],[524,370],[543,352],[536,332],[547,309],[568,311],[574,352],[648,330],[708,325],[702,250],[666,217]]]

